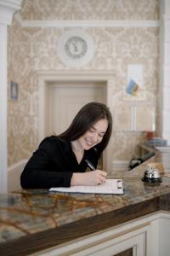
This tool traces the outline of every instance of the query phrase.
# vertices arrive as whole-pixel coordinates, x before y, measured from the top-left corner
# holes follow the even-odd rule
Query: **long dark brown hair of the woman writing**
[[[59,137],[65,138],[67,141],[74,141],[88,131],[100,119],[108,120],[108,127],[101,143],[97,144],[95,148],[99,153],[105,149],[109,143],[112,131],[112,117],[109,108],[104,103],[90,102],[80,109],[75,118],[72,120],[69,128],[61,133]]]

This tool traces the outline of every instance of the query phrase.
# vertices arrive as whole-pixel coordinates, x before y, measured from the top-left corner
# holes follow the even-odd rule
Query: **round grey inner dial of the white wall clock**
[[[86,41],[77,36],[69,38],[65,43],[65,53],[73,59],[82,58],[86,55],[87,50],[88,44]]]

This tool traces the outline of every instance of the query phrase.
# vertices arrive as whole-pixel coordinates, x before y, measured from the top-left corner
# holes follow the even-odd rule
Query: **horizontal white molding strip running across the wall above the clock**
[[[16,20],[23,27],[158,27],[159,20]]]

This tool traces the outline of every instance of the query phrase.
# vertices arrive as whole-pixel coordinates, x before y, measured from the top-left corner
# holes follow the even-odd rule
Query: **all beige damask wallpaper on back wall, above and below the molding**
[[[156,0],[25,0],[20,10],[25,20],[158,20]],[[28,159],[38,144],[38,70],[69,69],[59,61],[56,44],[68,27],[22,27],[15,19],[8,28],[8,165]],[[147,100],[158,97],[158,27],[88,27],[95,55],[83,70],[112,70],[116,99],[125,90],[127,65],[144,67]],[[18,101],[10,99],[10,81],[19,84]],[[117,104],[117,105],[116,105]],[[157,126],[159,116],[157,116]],[[158,129],[158,128],[157,128]],[[114,131],[112,160],[130,160],[144,134]]]

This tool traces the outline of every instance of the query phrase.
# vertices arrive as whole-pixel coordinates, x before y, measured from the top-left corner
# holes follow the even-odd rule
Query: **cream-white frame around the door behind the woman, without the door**
[[[106,85],[106,104],[112,109],[112,91],[115,84],[115,73],[113,71],[38,71],[38,85],[39,85],[39,113],[38,113],[38,134],[39,142],[45,137],[45,116],[46,116],[46,94],[48,94],[48,86],[54,84],[54,82],[59,83],[59,81],[93,81],[93,82],[104,82]],[[111,137],[112,138],[112,137]],[[111,140],[112,141],[112,140]],[[109,143],[104,154],[104,166],[106,170],[111,170],[112,165],[112,143]]]

